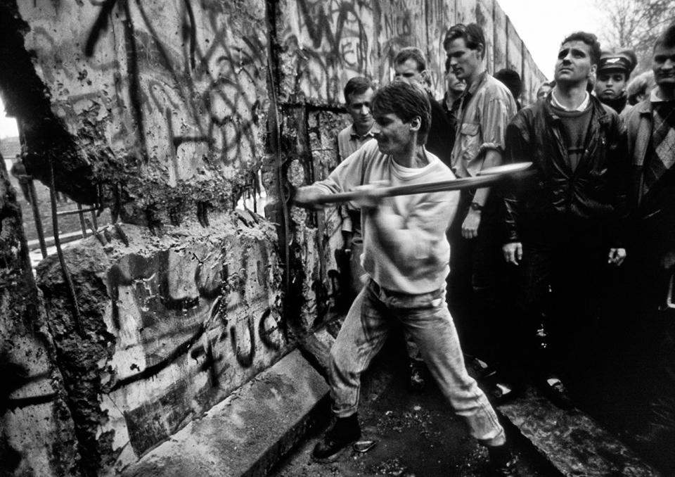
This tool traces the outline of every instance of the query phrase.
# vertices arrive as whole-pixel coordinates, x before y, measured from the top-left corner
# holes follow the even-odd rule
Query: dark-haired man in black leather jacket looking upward
[[[579,357],[597,318],[605,267],[626,256],[621,224],[628,177],[624,134],[615,110],[587,91],[600,44],[593,34],[571,34],[560,46],[555,87],[515,115],[506,129],[506,163],[532,161],[526,191],[506,194],[503,254],[518,265],[520,337],[535,348],[542,312],[552,300],[548,348],[536,379],[560,407],[572,407],[563,380]],[[532,339],[530,339],[532,338]]]

